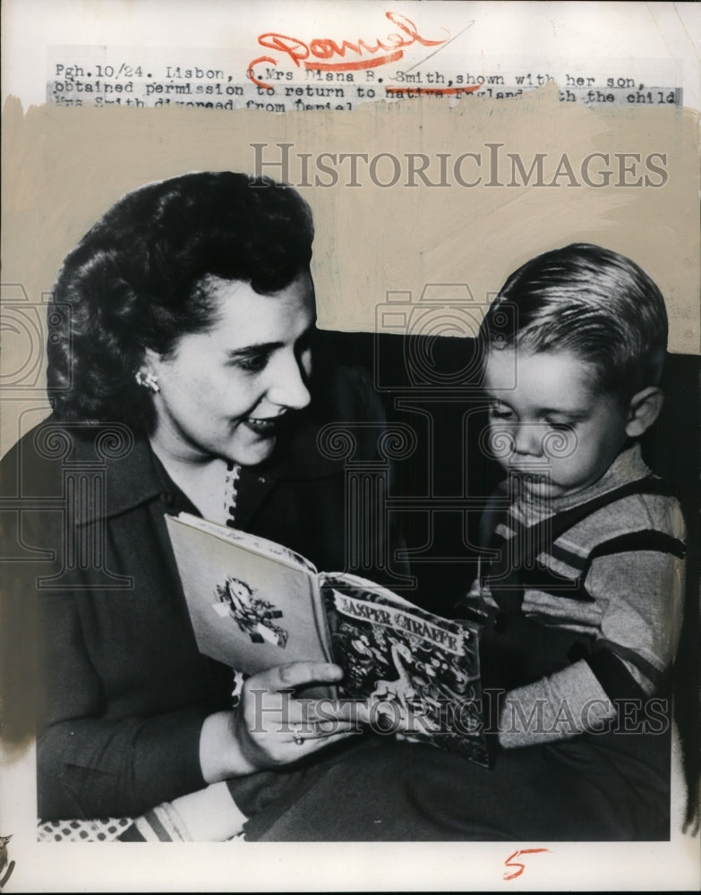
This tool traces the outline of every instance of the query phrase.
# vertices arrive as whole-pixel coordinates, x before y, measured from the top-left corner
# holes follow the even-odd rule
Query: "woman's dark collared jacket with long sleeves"
[[[374,464],[381,476],[388,463],[363,375],[337,367],[324,379],[270,461],[242,471],[236,524],[342,571],[346,471]],[[327,422],[352,436],[327,432],[322,452]],[[5,734],[21,737],[38,703],[39,816],[139,814],[201,788],[202,721],[230,703],[231,670],[197,651],[164,522],[197,510],[148,439],[119,424],[49,417],[2,473]],[[391,533],[387,546],[391,563]]]

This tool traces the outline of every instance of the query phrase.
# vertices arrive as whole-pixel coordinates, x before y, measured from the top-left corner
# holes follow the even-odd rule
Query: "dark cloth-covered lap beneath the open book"
[[[654,769],[665,767],[663,743],[652,764],[616,746],[603,737],[502,750],[487,770],[432,746],[368,737],[230,788],[252,815],[247,840],[669,838],[668,776]]]

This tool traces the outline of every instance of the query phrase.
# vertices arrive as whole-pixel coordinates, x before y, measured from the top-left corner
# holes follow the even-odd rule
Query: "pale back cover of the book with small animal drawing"
[[[329,661],[316,573],[291,561],[295,554],[252,550],[261,539],[195,516],[166,522],[200,652],[247,674]]]

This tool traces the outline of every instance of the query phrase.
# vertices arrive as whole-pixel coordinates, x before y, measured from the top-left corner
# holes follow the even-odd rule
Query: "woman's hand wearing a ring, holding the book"
[[[357,732],[352,703],[339,707],[293,694],[297,687],[342,677],[338,665],[291,662],[248,678],[238,707],[209,715],[202,726],[204,779],[213,783],[299,761]]]

